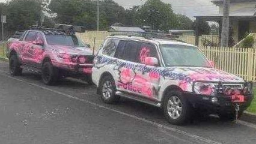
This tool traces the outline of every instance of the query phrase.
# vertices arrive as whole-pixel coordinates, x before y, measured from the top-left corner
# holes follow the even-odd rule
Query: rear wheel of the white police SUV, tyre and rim
[[[111,76],[105,76],[100,80],[100,98],[104,103],[113,104],[120,100],[120,96],[115,95],[117,91],[115,81]]]

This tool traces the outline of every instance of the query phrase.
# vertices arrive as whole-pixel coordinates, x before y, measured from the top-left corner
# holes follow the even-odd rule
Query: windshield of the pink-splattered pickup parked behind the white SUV
[[[49,45],[61,46],[84,46],[75,35],[46,35],[46,41]]]

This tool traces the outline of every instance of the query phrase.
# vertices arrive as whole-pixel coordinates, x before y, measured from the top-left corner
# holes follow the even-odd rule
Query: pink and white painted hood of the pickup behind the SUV
[[[73,46],[49,46],[50,49],[57,53],[66,53],[69,55],[93,55],[93,51],[88,47],[73,47]]]

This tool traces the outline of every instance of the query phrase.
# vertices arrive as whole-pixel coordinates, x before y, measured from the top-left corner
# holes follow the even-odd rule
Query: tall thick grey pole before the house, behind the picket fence
[[[221,32],[221,47],[228,47],[229,29],[230,29],[230,0],[224,0],[222,32]]]

